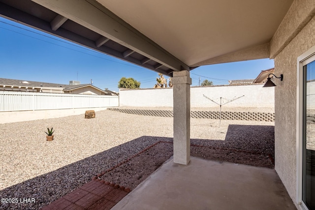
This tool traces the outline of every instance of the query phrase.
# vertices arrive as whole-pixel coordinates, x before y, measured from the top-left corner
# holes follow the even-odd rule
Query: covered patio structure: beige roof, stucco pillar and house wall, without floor
[[[315,54],[314,0],[0,0],[0,15],[171,76],[173,162],[184,165],[177,168],[194,164],[189,72],[201,65],[274,59],[275,74],[284,75],[275,81],[275,170],[297,208],[315,208],[302,199],[308,193],[306,200],[314,200],[314,193],[302,184],[299,73]]]

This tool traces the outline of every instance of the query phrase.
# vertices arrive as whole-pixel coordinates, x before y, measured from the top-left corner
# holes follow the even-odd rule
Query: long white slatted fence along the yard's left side
[[[0,112],[119,106],[119,96],[0,91]]]

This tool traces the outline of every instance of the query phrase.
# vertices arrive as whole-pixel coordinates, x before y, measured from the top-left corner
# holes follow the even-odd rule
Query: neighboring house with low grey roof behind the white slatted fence
[[[50,93],[70,93],[70,94],[88,94],[88,95],[118,95],[110,90],[101,90],[90,84],[78,84],[70,81],[70,84],[64,85],[55,83],[34,82],[25,80],[13,80],[0,78],[0,90],[26,91],[26,92],[50,92]]]

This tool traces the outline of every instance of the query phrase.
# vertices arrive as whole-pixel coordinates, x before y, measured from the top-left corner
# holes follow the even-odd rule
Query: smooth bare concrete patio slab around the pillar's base
[[[166,161],[112,210],[296,210],[273,169],[191,157]]]

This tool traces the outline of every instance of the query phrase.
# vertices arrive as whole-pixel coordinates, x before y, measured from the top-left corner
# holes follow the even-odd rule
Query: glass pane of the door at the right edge
[[[315,61],[304,71],[303,201],[315,210]]]

